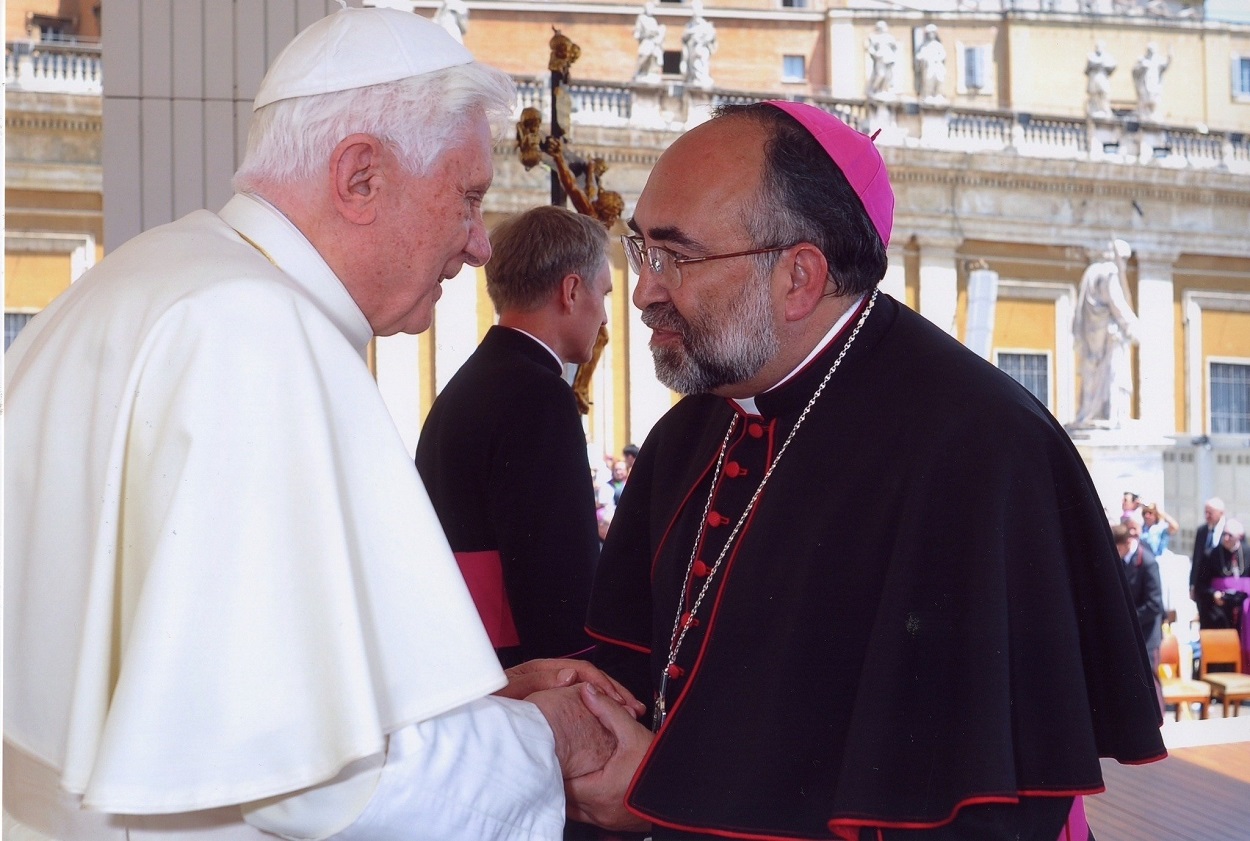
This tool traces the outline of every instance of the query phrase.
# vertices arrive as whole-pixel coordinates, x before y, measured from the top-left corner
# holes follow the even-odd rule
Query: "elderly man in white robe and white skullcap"
[[[614,747],[589,710],[636,702],[500,670],[365,362],[490,256],[512,97],[436,24],[338,11],[261,82],[226,206],[14,344],[6,839],[560,837]]]

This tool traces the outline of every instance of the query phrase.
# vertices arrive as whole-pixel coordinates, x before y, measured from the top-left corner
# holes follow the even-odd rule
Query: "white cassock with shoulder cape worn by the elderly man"
[[[6,824],[560,837],[551,730],[485,697],[505,679],[370,337],[312,245],[235,196],[121,246],[14,342]]]

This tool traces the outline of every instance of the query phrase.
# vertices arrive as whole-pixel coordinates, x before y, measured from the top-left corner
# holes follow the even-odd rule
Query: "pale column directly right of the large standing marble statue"
[[[1138,346],[1141,424],[1152,434],[1176,431],[1175,254],[1138,252]]]

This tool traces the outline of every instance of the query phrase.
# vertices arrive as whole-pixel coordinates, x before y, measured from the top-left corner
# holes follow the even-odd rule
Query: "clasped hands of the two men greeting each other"
[[[651,745],[638,722],[644,705],[580,660],[531,660],[508,670],[496,695],[539,707],[555,734],[569,817],[608,830],[645,830],[625,809],[625,790]]]

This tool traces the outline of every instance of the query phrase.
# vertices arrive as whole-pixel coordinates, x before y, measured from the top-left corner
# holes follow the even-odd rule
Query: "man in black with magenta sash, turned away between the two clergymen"
[[[416,447],[504,666],[585,654],[599,559],[586,439],[568,364],[590,361],[612,290],[608,231],[535,207],[491,236],[499,324],[434,401]]]

